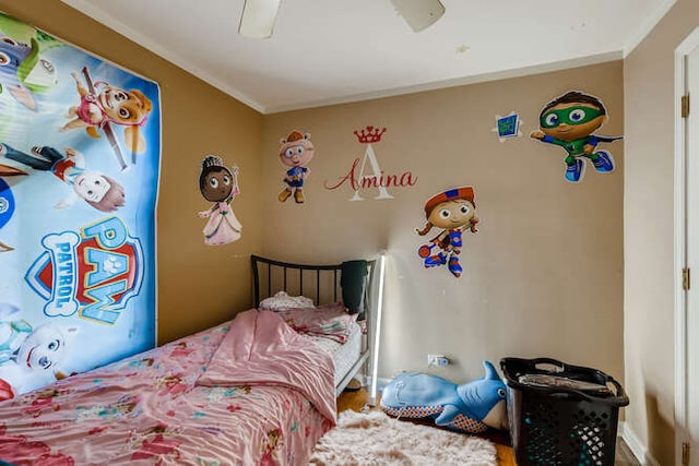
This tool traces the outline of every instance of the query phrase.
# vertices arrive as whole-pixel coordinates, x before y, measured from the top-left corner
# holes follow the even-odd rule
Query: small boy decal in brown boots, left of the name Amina
[[[304,181],[310,175],[306,165],[312,160],[316,147],[310,141],[310,133],[304,134],[300,131],[292,131],[288,136],[280,141],[280,160],[291,167],[284,177],[286,188],[279,195],[280,202],[286,201],[294,194],[294,201],[297,204],[303,204],[306,202]]]

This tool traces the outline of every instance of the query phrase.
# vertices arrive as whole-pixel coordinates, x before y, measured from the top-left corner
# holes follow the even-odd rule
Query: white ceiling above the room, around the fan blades
[[[62,0],[263,112],[620,59],[675,0],[442,0],[414,33],[390,0],[282,0],[274,35],[244,0]]]

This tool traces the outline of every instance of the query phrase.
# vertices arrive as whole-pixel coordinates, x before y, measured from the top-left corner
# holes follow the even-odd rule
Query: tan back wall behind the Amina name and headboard
[[[601,134],[623,134],[620,61],[265,116],[265,253],[313,262],[389,252],[380,377],[425,371],[427,354],[443,353],[455,363],[435,373],[455,381],[482,377],[484,359],[505,356],[555,357],[623,380],[624,142],[606,145],[617,171],[589,167],[571,184],[562,150],[526,136],[544,104],[570,89],[603,99],[611,119]],[[499,142],[495,116],[512,110],[525,136]],[[387,128],[372,145],[380,168],[417,177],[411,189],[389,189],[392,200],[374,200],[374,190],[351,202],[348,187],[323,187],[364,156],[353,131],[367,124]],[[279,141],[294,129],[317,147],[304,205],[276,200]],[[464,234],[465,273],[454,278],[424,268],[415,228],[428,198],[462,184],[474,186],[482,223]]]

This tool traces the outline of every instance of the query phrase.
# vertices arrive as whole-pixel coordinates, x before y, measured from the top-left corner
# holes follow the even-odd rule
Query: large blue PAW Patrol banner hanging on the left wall
[[[2,14],[0,37],[3,399],[155,346],[161,111],[152,81]]]

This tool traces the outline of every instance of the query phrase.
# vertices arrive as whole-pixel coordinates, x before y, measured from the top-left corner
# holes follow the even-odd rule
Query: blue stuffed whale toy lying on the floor
[[[506,386],[489,361],[485,378],[458,385],[437,375],[402,373],[381,393],[381,409],[389,416],[433,419],[449,430],[482,433],[507,429]]]

